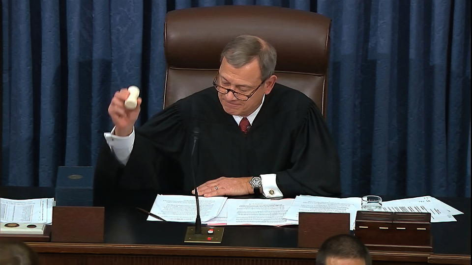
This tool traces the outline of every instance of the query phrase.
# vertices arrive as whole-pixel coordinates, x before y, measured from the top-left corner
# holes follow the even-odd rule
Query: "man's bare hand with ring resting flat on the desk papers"
[[[210,180],[197,187],[198,195],[205,197],[213,196],[238,196],[253,194],[254,190],[249,184],[252,177],[226,178],[220,177]],[[195,194],[195,190],[192,190]]]

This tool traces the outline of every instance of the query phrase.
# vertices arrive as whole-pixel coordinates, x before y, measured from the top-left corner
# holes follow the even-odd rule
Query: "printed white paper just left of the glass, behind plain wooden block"
[[[318,196],[296,196],[294,204],[285,218],[298,221],[299,212],[344,212],[350,215],[350,229],[354,230],[355,215],[360,210],[360,198],[329,198]]]

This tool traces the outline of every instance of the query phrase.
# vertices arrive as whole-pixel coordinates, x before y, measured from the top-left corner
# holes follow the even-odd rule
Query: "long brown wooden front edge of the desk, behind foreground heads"
[[[103,255],[219,256],[252,258],[314,259],[314,248],[228,247],[213,245],[144,245],[29,242],[38,253],[73,253]],[[433,264],[470,264],[470,255],[417,252],[372,251],[376,261],[408,261]]]

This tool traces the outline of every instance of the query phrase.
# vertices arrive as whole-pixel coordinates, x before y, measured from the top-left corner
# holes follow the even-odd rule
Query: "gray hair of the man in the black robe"
[[[266,80],[275,70],[277,52],[265,40],[251,35],[239,35],[228,43],[221,52],[220,62],[226,58],[229,64],[239,68],[250,63],[254,58],[259,59],[261,79]]]

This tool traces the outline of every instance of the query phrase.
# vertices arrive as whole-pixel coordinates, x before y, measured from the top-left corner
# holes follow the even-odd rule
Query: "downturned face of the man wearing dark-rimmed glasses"
[[[227,94],[218,92],[221,106],[228,114],[246,117],[259,107],[264,94],[270,93],[276,79],[275,76],[268,78],[247,101],[237,99],[231,91]],[[226,58],[223,58],[216,78],[218,85],[246,95],[250,95],[261,82],[261,70],[257,59],[240,68],[235,68],[228,63]]]

